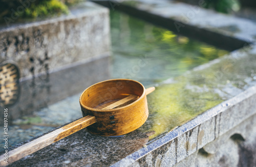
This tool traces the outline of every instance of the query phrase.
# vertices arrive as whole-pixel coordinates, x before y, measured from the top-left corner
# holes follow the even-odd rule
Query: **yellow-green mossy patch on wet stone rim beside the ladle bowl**
[[[181,76],[173,84],[157,87],[148,96],[150,112],[154,112],[148,118],[152,119],[152,127],[148,130],[156,132],[151,138],[168,132],[223,101],[217,93],[202,87],[189,86],[189,83],[189,78]]]

